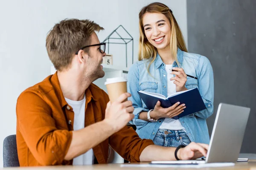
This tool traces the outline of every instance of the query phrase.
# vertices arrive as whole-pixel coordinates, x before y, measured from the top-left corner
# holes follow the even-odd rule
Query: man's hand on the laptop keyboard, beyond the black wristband
[[[177,157],[180,160],[197,159],[207,155],[209,145],[191,142],[186,147],[180,148]]]

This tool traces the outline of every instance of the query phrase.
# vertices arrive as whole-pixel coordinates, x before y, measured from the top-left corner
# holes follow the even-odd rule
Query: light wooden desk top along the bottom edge
[[[233,167],[207,167],[207,168],[159,168],[159,167],[120,167],[121,164],[97,164],[89,166],[49,166],[49,167],[9,167],[1,170],[256,170],[256,162],[238,162]]]

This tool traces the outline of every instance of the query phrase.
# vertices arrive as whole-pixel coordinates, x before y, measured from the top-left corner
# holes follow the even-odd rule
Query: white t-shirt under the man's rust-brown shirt
[[[84,128],[84,116],[85,116],[85,96],[80,101],[73,101],[65,98],[67,104],[73,108],[74,111],[74,130]],[[73,159],[73,165],[91,165],[94,161],[93,149],[88,150],[86,153],[77,156]]]

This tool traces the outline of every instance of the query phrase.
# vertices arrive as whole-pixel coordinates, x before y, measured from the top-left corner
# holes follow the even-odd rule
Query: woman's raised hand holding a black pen
[[[175,74],[176,76],[172,77],[170,80],[175,80],[173,83],[176,85],[176,92],[187,90],[185,87],[187,76],[183,68],[173,67],[172,70],[170,74]]]

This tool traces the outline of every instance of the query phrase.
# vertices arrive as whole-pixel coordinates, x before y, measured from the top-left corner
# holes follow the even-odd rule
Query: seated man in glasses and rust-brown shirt
[[[57,72],[26,89],[17,99],[17,150],[20,166],[106,163],[108,146],[130,162],[175,160],[174,147],[140,139],[127,127],[133,119],[131,96],[110,103],[92,82],[105,75],[105,45],[89,20],[63,20],[46,39]],[[207,144],[177,150],[178,159],[206,156]]]

